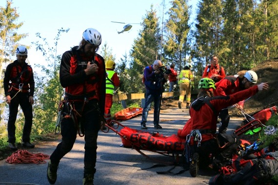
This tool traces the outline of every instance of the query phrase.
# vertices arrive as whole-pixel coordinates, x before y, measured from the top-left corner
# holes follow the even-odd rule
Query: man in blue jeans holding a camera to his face
[[[159,125],[159,109],[161,101],[161,93],[163,91],[163,85],[168,80],[168,74],[164,73],[166,70],[165,66],[162,66],[160,60],[155,60],[154,64],[147,66],[144,69],[145,77],[145,106],[142,112],[141,129],[148,129],[146,127],[147,117],[151,104],[154,101],[154,126],[155,129],[162,129]]]

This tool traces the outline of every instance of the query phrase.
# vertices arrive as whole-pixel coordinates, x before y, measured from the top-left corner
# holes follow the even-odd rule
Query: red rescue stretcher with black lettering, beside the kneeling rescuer
[[[132,148],[138,151],[143,156],[164,164],[173,164],[173,162],[159,161],[146,155],[142,150],[156,152],[165,156],[172,156],[175,159],[174,163],[179,163],[179,157],[183,156],[186,139],[178,137],[176,134],[172,136],[164,136],[158,132],[147,132],[137,129],[131,129],[120,124],[116,120],[112,120],[109,124],[105,124],[108,129],[102,130],[107,133],[110,129],[116,132],[121,138],[124,148]],[[119,131],[119,127],[122,127]],[[102,128],[102,127],[100,127]]]

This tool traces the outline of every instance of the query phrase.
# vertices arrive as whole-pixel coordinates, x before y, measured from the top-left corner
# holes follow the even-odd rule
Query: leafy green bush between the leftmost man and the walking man
[[[35,104],[33,116],[33,133],[44,134],[53,132],[56,124],[58,105],[62,99],[63,88],[60,85],[59,70],[61,56],[57,54],[58,40],[62,33],[67,33],[69,29],[59,29],[55,38],[55,47],[51,47],[46,38],[37,33],[40,41],[32,42],[36,45],[47,61],[47,66],[37,64],[36,67],[45,73],[44,76],[35,75]],[[46,48],[45,48],[46,47]]]

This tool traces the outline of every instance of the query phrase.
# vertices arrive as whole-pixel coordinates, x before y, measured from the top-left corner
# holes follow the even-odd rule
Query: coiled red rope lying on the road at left
[[[27,150],[17,150],[6,159],[6,162],[10,164],[20,164],[20,163],[44,164],[46,163],[45,159],[49,159],[49,155],[43,153],[33,154]]]

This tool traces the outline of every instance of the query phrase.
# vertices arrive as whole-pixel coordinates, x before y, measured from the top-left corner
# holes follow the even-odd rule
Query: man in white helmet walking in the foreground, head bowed
[[[83,185],[93,185],[100,116],[104,115],[105,104],[105,64],[103,57],[96,53],[101,39],[96,29],[88,28],[83,32],[79,46],[62,55],[60,84],[65,88],[62,141],[48,163],[50,184],[55,184],[60,159],[72,149],[80,124],[85,134]]]

